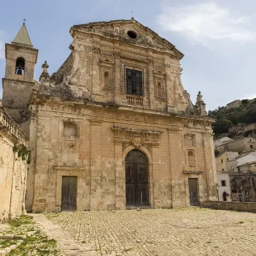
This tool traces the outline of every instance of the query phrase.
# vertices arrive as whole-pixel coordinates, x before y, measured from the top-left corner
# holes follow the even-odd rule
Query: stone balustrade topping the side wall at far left
[[[20,130],[12,118],[6,113],[0,101],[0,129],[4,129],[10,136],[12,136],[17,143],[28,146],[28,137]]]

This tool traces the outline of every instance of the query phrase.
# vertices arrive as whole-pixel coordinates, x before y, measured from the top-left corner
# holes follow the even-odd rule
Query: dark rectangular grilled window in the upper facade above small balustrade
[[[143,96],[142,71],[125,68],[126,93]]]

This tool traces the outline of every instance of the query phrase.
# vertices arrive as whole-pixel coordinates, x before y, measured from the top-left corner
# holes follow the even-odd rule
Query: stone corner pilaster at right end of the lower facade
[[[204,154],[205,154],[205,169],[207,172],[207,187],[208,199],[216,200],[216,163],[214,157],[213,138],[211,133],[204,133]]]

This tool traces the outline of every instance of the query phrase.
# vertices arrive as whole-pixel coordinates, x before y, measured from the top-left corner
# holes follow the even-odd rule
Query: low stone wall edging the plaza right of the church
[[[218,210],[256,212],[256,203],[204,201],[202,207]]]

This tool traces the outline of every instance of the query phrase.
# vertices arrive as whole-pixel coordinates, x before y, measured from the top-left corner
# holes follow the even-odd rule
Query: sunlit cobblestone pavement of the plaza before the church
[[[191,207],[33,216],[64,255],[256,255],[256,214],[249,212]]]

